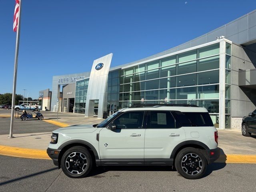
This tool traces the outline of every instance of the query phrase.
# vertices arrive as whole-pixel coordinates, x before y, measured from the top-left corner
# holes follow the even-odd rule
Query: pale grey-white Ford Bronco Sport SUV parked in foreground
[[[52,133],[47,153],[71,178],[97,166],[175,166],[184,178],[201,178],[220,156],[218,132],[206,108],[194,105],[137,105],[96,125]]]

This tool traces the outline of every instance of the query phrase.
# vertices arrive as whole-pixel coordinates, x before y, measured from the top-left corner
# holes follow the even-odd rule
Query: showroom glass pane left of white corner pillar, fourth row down
[[[219,98],[219,85],[208,85],[198,87],[198,99]]]

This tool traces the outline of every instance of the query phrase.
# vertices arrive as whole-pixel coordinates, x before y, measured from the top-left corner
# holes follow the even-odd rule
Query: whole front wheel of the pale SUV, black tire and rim
[[[61,158],[61,168],[70,178],[83,178],[92,169],[90,152],[82,146],[69,148]]]

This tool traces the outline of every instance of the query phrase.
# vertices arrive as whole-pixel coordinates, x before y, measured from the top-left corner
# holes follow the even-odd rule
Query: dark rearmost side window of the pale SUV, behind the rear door
[[[174,117],[180,122],[180,126],[213,126],[212,119],[208,112],[172,112]]]

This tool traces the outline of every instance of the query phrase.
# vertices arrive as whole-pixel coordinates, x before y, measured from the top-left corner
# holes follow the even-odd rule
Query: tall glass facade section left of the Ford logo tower
[[[75,113],[85,114],[85,103],[88,89],[89,79],[83,79],[76,82],[76,95],[75,95]]]

